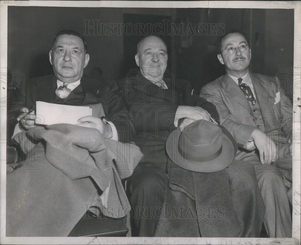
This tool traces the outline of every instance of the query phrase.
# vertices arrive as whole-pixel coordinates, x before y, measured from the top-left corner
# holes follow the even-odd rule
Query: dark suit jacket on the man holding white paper
[[[53,75],[30,79],[26,88],[26,107],[29,108],[35,105],[36,101],[71,106],[102,103],[108,120],[116,126],[120,136],[119,141],[128,141],[126,139],[126,132],[129,131],[127,124],[128,111],[122,98],[118,95],[115,81],[98,81],[84,75],[81,78],[81,84],[72,90],[65,100],[61,100],[55,95],[56,81],[57,79]]]

